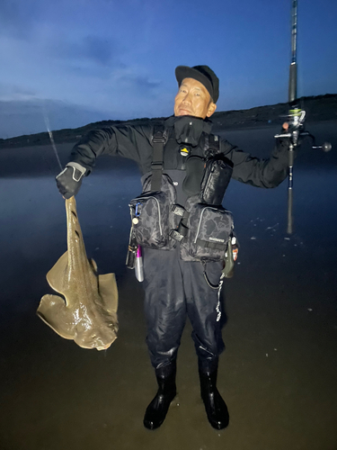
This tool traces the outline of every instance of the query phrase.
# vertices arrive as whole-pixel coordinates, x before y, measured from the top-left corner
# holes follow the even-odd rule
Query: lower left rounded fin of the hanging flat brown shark
[[[61,338],[75,338],[73,314],[67,310],[62,297],[50,294],[43,295],[37,314]]]

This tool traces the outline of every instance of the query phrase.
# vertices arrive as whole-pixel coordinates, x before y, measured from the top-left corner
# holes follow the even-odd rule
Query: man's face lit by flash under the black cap
[[[184,78],[174,100],[174,115],[192,115],[206,119],[217,109],[211,102],[208,90],[194,78]]]

